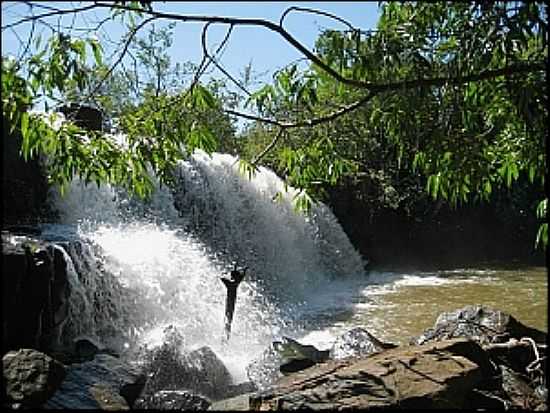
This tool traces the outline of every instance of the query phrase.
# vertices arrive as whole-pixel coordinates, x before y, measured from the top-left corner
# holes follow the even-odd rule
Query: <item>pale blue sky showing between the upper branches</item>
[[[70,8],[78,6],[80,2],[34,2],[35,4],[48,5],[58,8]],[[215,15],[226,17],[254,17],[278,22],[284,10],[290,6],[307,7],[335,14],[353,26],[368,30],[375,27],[378,20],[378,2],[154,2],[154,9],[158,11],[172,12],[187,15]],[[28,6],[20,2],[2,2],[2,27],[21,16],[28,15]],[[40,7],[35,7],[35,13],[43,12]],[[101,19],[105,14],[101,12],[80,13],[76,17],[76,26],[87,26],[93,21]],[[66,16],[62,24],[71,24],[72,16]],[[50,20],[56,24],[57,20]],[[156,23],[160,26],[162,23]],[[169,50],[172,63],[192,61],[199,63],[201,53],[202,23],[178,23],[174,29],[174,42]],[[2,55],[17,56],[22,50],[21,41],[26,42],[30,23],[25,23],[12,29],[2,30]],[[105,25],[105,30],[95,33],[99,38],[109,36],[117,39],[123,33],[123,27],[119,24]],[[346,27],[333,19],[304,12],[292,12],[285,19],[285,29],[298,41],[311,49],[320,30],[345,29]],[[208,31],[208,43],[214,49],[223,39],[227,26],[215,25]],[[36,28],[36,32],[43,31],[43,37],[51,33],[46,26]],[[143,31],[145,33],[145,31]],[[262,79],[268,81],[272,74],[288,63],[303,57],[298,51],[286,43],[278,34],[259,27],[235,27],[231,38],[220,59],[221,64],[235,77],[239,77],[246,65],[252,63],[256,74],[263,73]]]

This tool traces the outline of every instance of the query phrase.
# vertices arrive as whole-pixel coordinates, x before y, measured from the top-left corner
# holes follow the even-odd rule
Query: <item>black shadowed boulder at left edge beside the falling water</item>
[[[55,347],[68,316],[66,262],[54,244],[2,232],[2,350]]]

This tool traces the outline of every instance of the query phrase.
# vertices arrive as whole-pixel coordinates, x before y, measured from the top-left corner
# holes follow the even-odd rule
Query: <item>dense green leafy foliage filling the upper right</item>
[[[292,145],[277,150],[280,169],[285,162],[299,164],[285,171],[310,191],[319,181],[333,185],[327,174],[340,162],[351,167],[337,177],[363,181],[364,193],[373,185],[381,194],[404,189],[383,197],[394,207],[416,202],[422,181],[433,199],[453,206],[487,201],[495,189],[522,176],[543,187],[547,27],[539,3],[389,2],[376,31],[325,31],[316,43],[322,60],[376,92],[330,126],[293,130]],[[529,65],[538,69],[514,71]],[[502,75],[459,80],[503,67],[510,69]],[[337,82],[316,66],[300,74],[291,66],[252,101],[265,115],[299,123],[364,96],[365,90]],[[327,149],[322,161],[315,155],[319,148]],[[379,200],[378,206],[386,202]]]

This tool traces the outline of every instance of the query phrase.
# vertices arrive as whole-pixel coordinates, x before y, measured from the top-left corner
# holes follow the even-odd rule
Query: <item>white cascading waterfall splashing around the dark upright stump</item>
[[[177,175],[175,191],[159,187],[146,203],[79,181],[57,198],[63,225],[50,232],[71,228],[98,247],[70,255],[82,261],[75,266],[96,268],[87,277],[102,280],[88,281],[95,298],[86,301],[73,277],[80,291],[73,298],[86,308],[72,323],[103,341],[105,331],[119,331],[145,346],[160,344],[172,325],[187,349],[210,346],[237,381],[245,380],[246,365],[274,339],[307,328],[308,303],[330,280],[362,276],[364,263],[326,206],[314,206],[307,217],[296,213],[293,189],[285,192],[268,169],[249,180],[236,158],[196,151]],[[277,192],[283,196],[274,201]],[[233,262],[249,270],[224,343],[226,290],[219,278]],[[102,291],[109,289],[106,277],[116,281],[116,291]],[[98,304],[101,294],[108,297]],[[106,328],[109,314],[117,322]]]

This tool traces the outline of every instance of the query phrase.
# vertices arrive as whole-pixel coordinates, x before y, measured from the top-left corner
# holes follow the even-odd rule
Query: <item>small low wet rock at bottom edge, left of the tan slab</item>
[[[134,409],[206,410],[209,406],[210,400],[188,390],[160,390],[140,399]]]

